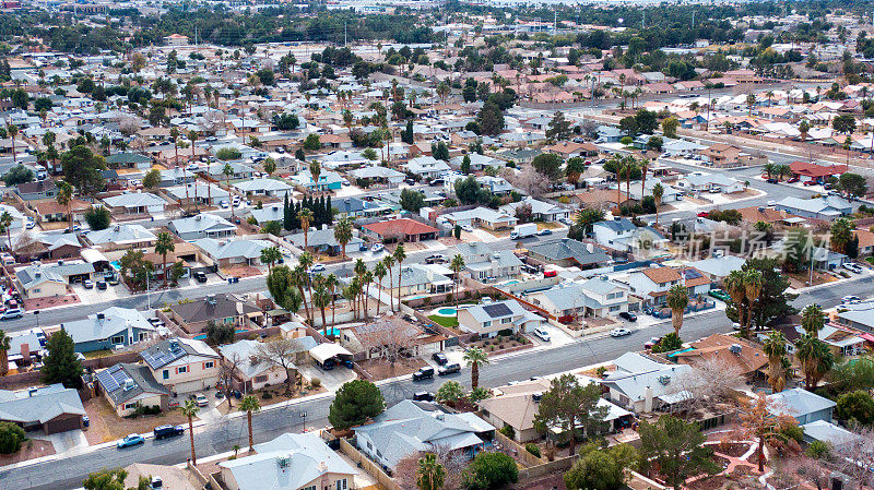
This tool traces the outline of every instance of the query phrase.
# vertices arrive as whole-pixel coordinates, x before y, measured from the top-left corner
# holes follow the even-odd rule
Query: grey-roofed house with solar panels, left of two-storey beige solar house
[[[97,393],[119,417],[137,411],[140,406],[166,410],[170,391],[155,380],[149,366],[119,362],[95,373]]]

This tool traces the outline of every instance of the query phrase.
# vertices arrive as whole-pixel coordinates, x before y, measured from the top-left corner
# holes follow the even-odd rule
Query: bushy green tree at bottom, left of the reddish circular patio
[[[713,463],[712,450],[704,445],[707,438],[695,422],[663,415],[656,423],[642,420],[639,433],[641,464],[657,464],[676,490],[690,476],[722,469]]]

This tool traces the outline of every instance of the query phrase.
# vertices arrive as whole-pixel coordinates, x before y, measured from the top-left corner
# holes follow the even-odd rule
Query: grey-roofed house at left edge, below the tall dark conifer
[[[51,435],[81,430],[84,416],[79,392],[60,383],[17,392],[0,390],[0,421],[16,423],[25,431]]]

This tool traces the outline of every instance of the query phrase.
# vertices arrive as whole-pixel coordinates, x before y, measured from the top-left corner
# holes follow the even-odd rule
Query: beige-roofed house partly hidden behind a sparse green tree
[[[580,380],[588,384],[591,380]],[[511,427],[513,440],[521,444],[541,438],[534,428],[534,417],[540,411],[540,401],[548,392],[552,383],[547,379],[522,381],[521,383],[492,389],[493,396],[479,402],[483,418],[495,427]],[[634,414],[604,398],[598,401],[598,407],[607,409],[604,421],[611,429],[619,429],[631,420]],[[553,429],[560,433],[562,428]]]

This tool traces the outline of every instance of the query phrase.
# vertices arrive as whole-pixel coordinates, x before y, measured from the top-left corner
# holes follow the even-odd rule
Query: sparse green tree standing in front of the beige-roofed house
[[[540,433],[560,428],[570,441],[570,454],[576,454],[579,430],[587,437],[593,437],[605,429],[607,408],[599,407],[599,385],[591,383],[582,386],[572,374],[562,374],[552,380],[550,391],[543,394],[534,416],[534,428]]]

